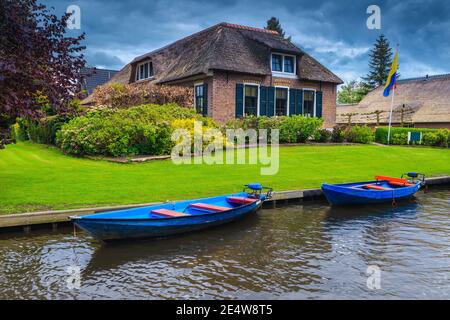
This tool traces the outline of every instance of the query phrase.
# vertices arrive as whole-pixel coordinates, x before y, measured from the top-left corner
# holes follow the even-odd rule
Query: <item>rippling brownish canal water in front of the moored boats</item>
[[[440,188],[396,208],[289,205],[156,241],[0,235],[0,299],[449,299],[449,213]]]

